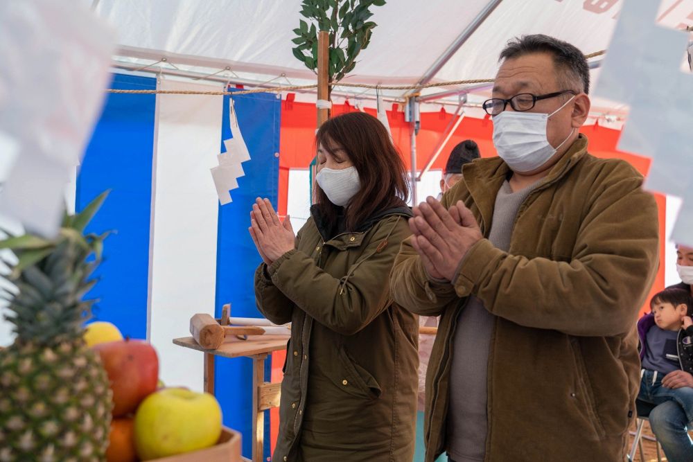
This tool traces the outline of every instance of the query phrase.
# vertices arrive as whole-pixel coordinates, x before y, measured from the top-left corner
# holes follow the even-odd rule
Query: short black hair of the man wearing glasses
[[[548,35],[523,35],[511,39],[500,52],[499,61],[529,55],[531,53],[550,53],[554,58],[554,66],[559,72],[559,84],[566,85],[565,90],[590,92],[590,66],[585,55],[568,42],[563,42]],[[576,85],[581,82],[579,87]]]

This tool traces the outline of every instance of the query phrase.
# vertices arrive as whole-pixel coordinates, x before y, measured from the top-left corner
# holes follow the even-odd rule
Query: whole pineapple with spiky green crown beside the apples
[[[54,240],[0,241],[18,258],[8,276],[17,291],[3,294],[17,337],[0,349],[0,462],[105,460],[111,391],[82,339],[94,303],[82,297],[96,283],[89,276],[107,236],[84,230],[106,195],[66,215]]]

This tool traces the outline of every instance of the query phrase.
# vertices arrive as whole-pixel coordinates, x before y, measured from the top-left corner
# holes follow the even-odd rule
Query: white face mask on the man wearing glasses
[[[514,172],[531,172],[543,166],[568,141],[575,129],[554,148],[546,134],[549,117],[559,112],[574,96],[551,114],[503,111],[493,116],[493,144],[498,156]]]

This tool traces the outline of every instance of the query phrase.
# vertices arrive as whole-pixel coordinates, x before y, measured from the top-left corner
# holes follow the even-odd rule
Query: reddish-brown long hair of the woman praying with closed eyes
[[[346,208],[347,231],[358,229],[377,211],[403,206],[409,195],[404,162],[385,126],[365,112],[350,112],[328,119],[315,135],[315,144],[328,151],[341,147],[356,167],[361,189]],[[330,228],[340,207],[315,185],[317,206]]]

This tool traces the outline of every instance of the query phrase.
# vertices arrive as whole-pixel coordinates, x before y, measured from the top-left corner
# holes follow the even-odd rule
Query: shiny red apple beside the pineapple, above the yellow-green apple
[[[144,398],[156,391],[159,359],[146,341],[109,341],[92,348],[98,351],[111,382],[114,417],[134,412]]]

